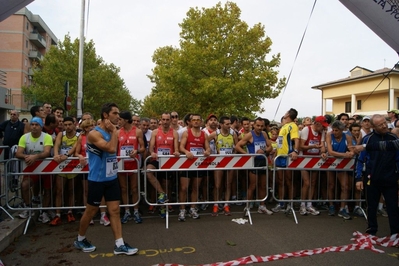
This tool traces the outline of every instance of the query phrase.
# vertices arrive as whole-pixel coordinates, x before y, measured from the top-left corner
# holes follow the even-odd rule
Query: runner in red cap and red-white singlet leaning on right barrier
[[[325,129],[327,129],[328,123],[327,119],[324,116],[317,116],[312,125],[305,127],[302,129],[300,133],[300,149],[302,155],[309,156],[322,156],[323,158],[327,158],[326,147],[324,145],[325,142]],[[301,215],[306,215],[308,213],[312,215],[319,215],[320,212],[317,211],[313,206],[310,200],[313,199],[313,194],[316,189],[316,181],[317,181],[317,171],[306,171],[302,170],[302,192],[301,199],[309,200],[306,203],[301,202],[301,207],[299,213]],[[310,187],[310,189],[309,189]]]

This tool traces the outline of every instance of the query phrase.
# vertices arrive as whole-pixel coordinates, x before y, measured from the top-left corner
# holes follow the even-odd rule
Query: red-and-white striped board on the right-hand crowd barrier
[[[324,169],[324,170],[353,170],[355,165],[354,159],[333,158],[326,160],[320,157],[298,157],[296,160],[288,159],[287,168],[304,168],[304,169]]]

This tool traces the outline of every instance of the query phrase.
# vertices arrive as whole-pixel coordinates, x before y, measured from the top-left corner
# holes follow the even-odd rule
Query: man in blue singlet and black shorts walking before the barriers
[[[114,254],[133,255],[137,248],[132,248],[122,238],[122,224],[119,213],[121,191],[117,178],[119,108],[115,103],[104,104],[101,109],[101,124],[87,135],[87,153],[89,155],[89,187],[86,210],[80,220],[79,234],[74,242],[77,249],[92,252],[96,249],[87,239],[86,231],[104,196],[115,237]]]

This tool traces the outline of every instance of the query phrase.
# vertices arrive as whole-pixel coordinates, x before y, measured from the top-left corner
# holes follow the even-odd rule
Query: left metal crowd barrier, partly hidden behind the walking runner
[[[124,160],[126,159],[131,159],[130,157],[117,157],[118,158],[118,174],[120,173],[130,173],[130,172],[134,172],[137,173],[138,170],[125,170],[124,169]],[[137,160],[136,160],[137,161]],[[17,167],[15,167],[17,165]],[[13,169],[12,171],[10,169]],[[88,165],[86,166],[81,166],[79,163],[79,158],[78,157],[70,157],[67,160],[61,162],[61,163],[57,163],[56,161],[54,161],[52,158],[46,158],[43,160],[38,160],[36,162],[34,162],[32,165],[27,165],[25,163],[24,160],[20,160],[20,159],[10,159],[6,162],[5,164],[5,177],[6,177],[6,191],[10,191],[14,188],[14,183],[12,181],[14,180],[18,180],[18,186],[22,185],[23,182],[23,177],[24,176],[38,176],[39,181],[37,182],[36,189],[37,191],[39,191],[39,195],[40,195],[40,203],[36,204],[36,206],[26,206],[26,207],[22,207],[22,206],[14,206],[14,205],[10,205],[10,201],[12,200],[12,198],[10,199],[10,195],[9,193],[5,194],[5,198],[6,198],[6,202],[7,202],[7,208],[9,208],[10,210],[16,210],[16,211],[29,211],[29,216],[27,218],[27,222],[25,225],[25,230],[24,230],[24,234],[26,234],[28,226],[30,224],[30,221],[32,219],[33,216],[33,212],[34,211],[55,211],[55,210],[70,210],[70,209],[85,209],[86,206],[83,204],[83,194],[82,194],[82,198],[81,199],[77,199],[76,198],[76,193],[75,193],[75,188],[79,188],[79,184],[75,184],[75,180],[77,179],[76,177],[70,178],[73,180],[73,191],[72,191],[72,197],[73,197],[73,202],[75,204],[73,204],[73,206],[65,206],[65,195],[67,194],[67,192],[64,192],[64,186],[62,186],[61,191],[62,191],[62,197],[61,197],[61,206],[60,207],[55,207],[55,203],[54,203],[54,196],[55,195],[55,178],[60,178],[58,177],[59,174],[87,174],[89,172],[89,167]],[[43,187],[43,181],[45,181],[45,179],[48,178],[50,179],[50,188],[44,188]],[[61,177],[61,178],[67,178],[68,177]],[[28,184],[27,186],[29,187],[29,199],[32,200],[32,184],[30,183],[31,179],[28,179]],[[47,180],[48,181],[48,180]],[[76,182],[79,182],[76,181]],[[139,179],[138,179],[138,182]],[[35,185],[35,184],[33,184]],[[140,187],[140,183],[138,184],[138,186]],[[49,189],[50,194],[47,196],[49,197],[49,206],[43,206],[43,188],[44,189]],[[81,185],[81,192],[84,193],[85,187],[84,187],[84,182],[82,182]],[[22,193],[22,191],[21,191]],[[46,193],[46,191],[44,192],[44,194]],[[140,197],[139,197],[140,199]],[[80,201],[81,200],[81,201]],[[32,201],[31,201],[32,202]],[[80,205],[76,205],[76,203],[82,203]],[[125,204],[125,205],[120,205],[121,207],[124,206],[134,206],[137,205],[139,202],[135,202],[133,203],[133,205],[130,204]],[[47,205],[47,204],[46,204]],[[100,206],[100,207],[106,207],[106,206]]]

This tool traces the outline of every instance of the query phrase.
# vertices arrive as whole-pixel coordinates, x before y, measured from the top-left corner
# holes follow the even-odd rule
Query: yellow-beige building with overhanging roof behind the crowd
[[[399,109],[399,67],[369,70],[356,66],[347,78],[313,86],[321,90],[323,114],[372,115]]]

